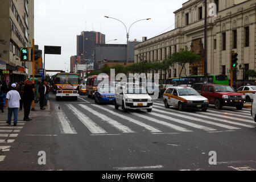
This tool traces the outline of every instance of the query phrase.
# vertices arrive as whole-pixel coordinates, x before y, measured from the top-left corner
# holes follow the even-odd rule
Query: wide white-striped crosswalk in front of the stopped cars
[[[255,129],[249,110],[179,111],[154,103],[151,113],[146,111],[115,110],[113,105],[64,104],[55,106],[61,134],[120,135],[126,133],[189,133],[203,131],[221,133]],[[65,114],[69,110],[71,114]],[[82,126],[78,129],[77,122]],[[76,127],[73,127],[76,126]],[[111,129],[110,129],[111,128]],[[79,131],[79,132],[78,132]]]

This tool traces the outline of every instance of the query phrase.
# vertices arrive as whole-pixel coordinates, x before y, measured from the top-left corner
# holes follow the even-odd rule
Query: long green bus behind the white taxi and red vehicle
[[[199,76],[183,76],[180,78],[168,78],[167,84],[171,85],[193,85],[196,83],[205,82],[205,77],[203,75]],[[229,78],[226,75],[208,75],[207,76],[208,84],[217,84],[217,85],[229,85]]]

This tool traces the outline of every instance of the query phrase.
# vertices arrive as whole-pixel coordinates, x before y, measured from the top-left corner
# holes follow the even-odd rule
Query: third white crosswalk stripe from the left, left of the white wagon
[[[99,113],[96,110],[93,110],[92,108],[85,106],[85,105],[79,105],[80,107],[82,107],[83,109],[85,109],[86,111],[89,111],[90,113],[96,115],[97,117],[101,118],[103,121],[106,121],[109,123],[109,125],[115,127],[117,130],[121,131],[122,133],[134,133],[133,130],[131,130],[129,127],[122,125],[121,123],[115,121],[112,118],[109,118],[108,116]]]

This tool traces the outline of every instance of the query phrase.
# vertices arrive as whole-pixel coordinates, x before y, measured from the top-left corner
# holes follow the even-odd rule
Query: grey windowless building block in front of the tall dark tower
[[[139,42],[129,42],[129,64],[134,64],[134,48]],[[96,69],[104,66],[127,64],[127,44],[98,44],[96,46]]]

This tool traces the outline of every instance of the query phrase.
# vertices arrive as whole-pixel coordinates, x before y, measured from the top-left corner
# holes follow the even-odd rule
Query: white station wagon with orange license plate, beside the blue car
[[[132,109],[146,109],[148,112],[152,111],[153,102],[152,98],[147,94],[146,89],[141,86],[117,86],[115,90],[115,109],[119,106],[122,110]]]

